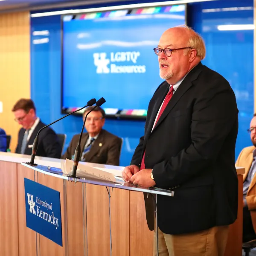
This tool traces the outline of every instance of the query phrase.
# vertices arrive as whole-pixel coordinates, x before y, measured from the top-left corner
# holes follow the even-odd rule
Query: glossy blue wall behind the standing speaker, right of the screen
[[[233,7],[237,7],[234,9]],[[247,129],[253,117],[253,30],[220,31],[219,25],[253,24],[253,0],[213,1],[189,6],[189,25],[204,38],[203,64],[226,78],[236,94],[239,134],[236,158],[252,145]]]

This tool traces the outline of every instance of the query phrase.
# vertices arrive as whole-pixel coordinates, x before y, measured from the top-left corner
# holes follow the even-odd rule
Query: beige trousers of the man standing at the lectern
[[[168,235],[158,228],[158,252],[159,256],[224,256],[227,237],[228,226],[182,235]],[[156,232],[154,256],[157,256]]]

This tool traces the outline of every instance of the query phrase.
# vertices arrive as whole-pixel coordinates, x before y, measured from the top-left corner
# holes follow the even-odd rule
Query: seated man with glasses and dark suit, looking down
[[[18,100],[12,108],[12,112],[15,115],[15,121],[22,125],[15,153],[30,155],[35,137],[45,124],[36,116],[35,105],[31,99]],[[61,145],[52,128],[47,127],[41,131],[36,155],[40,157],[61,157]]]

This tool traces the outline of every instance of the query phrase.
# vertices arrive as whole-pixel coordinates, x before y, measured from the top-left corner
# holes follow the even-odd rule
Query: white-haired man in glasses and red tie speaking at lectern
[[[223,256],[238,208],[235,95],[226,79],[201,64],[204,41],[192,29],[166,30],[154,52],[166,81],[149,102],[145,134],[123,178],[175,192],[157,195],[160,256]],[[154,230],[146,194],[145,207]]]

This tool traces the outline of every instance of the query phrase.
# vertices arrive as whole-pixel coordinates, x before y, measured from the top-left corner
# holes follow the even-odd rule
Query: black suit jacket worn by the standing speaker
[[[228,225],[237,218],[238,180],[235,145],[238,109],[230,84],[199,63],[182,81],[151,132],[169,84],[157,88],[149,106],[145,135],[131,164],[153,169],[156,186],[174,197],[157,195],[163,233],[197,232]],[[149,197],[150,198],[150,197]],[[148,200],[149,201],[149,200]],[[146,202],[148,227],[154,214]]]

